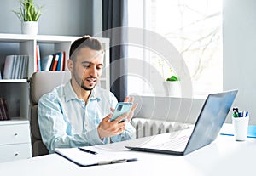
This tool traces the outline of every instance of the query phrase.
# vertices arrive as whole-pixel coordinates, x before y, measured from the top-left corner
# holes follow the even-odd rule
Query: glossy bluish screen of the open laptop
[[[237,90],[209,94],[195,122],[195,129],[186,146],[185,154],[210,144],[218,136],[220,128],[236,98]]]

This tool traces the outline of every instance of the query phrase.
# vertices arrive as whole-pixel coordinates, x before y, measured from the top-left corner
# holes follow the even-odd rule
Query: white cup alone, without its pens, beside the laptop
[[[234,135],[236,141],[244,141],[247,139],[249,116],[247,117],[232,117]]]

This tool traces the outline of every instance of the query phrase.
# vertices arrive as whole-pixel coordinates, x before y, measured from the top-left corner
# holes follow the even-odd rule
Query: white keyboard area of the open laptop
[[[163,144],[155,145],[154,148],[160,150],[177,150],[181,147],[185,148],[186,144],[188,143],[189,136],[181,136],[176,139],[171,139]]]

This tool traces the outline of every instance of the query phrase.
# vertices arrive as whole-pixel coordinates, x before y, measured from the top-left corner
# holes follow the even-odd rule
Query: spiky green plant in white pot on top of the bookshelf
[[[13,10],[21,21],[21,32],[23,34],[38,34],[38,19],[41,16],[42,7],[34,4],[33,0],[20,0],[20,9]]]

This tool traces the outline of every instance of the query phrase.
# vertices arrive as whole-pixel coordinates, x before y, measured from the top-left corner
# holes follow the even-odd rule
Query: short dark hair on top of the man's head
[[[102,43],[94,38],[94,37],[90,37],[89,35],[83,36],[77,40],[75,40],[71,46],[70,46],[70,50],[69,50],[69,58],[71,60],[75,60],[76,55],[79,52],[80,48],[90,48],[96,51],[100,51],[102,50]],[[102,50],[103,53],[103,50]]]

